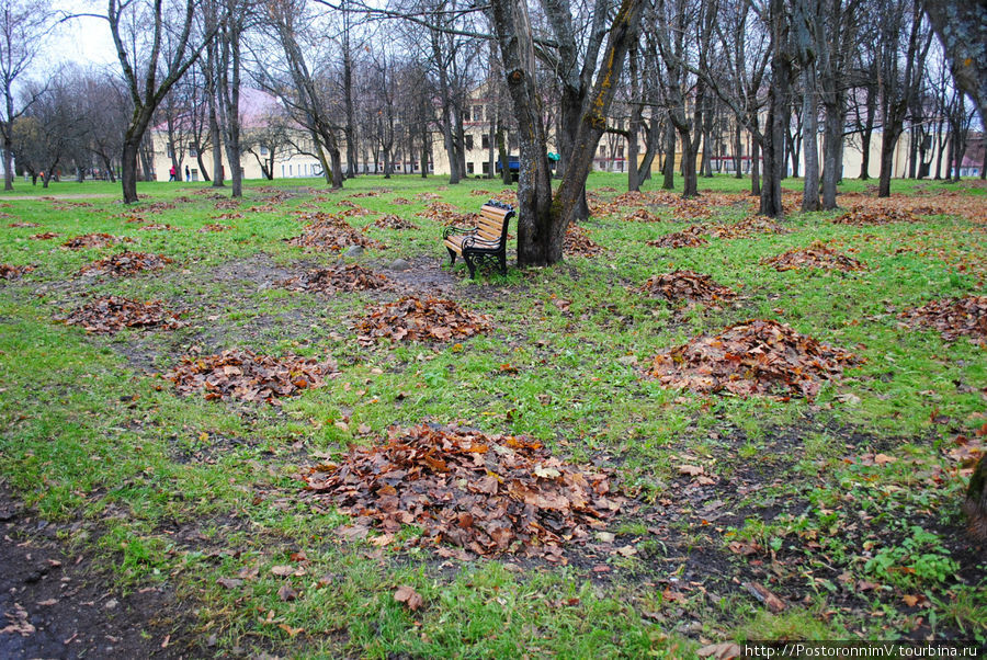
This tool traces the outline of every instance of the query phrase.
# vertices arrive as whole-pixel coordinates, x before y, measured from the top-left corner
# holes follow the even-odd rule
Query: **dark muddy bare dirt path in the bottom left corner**
[[[67,553],[56,526],[0,487],[0,658],[177,658],[194,640],[177,633],[164,587],[122,594],[87,555]]]

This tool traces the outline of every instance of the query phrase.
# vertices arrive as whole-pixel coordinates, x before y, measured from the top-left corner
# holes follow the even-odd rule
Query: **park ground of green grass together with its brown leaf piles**
[[[495,181],[11,200],[10,547],[84,558],[127,629],[106,603],[154,594],[164,656],[987,642],[960,512],[987,444],[985,189],[847,181],[844,210],[786,192],[773,224],[747,182],[701,181],[594,174],[564,263],[475,282],[439,237],[513,202]],[[37,587],[58,579],[11,583],[0,650],[114,644],[72,636],[71,587]]]

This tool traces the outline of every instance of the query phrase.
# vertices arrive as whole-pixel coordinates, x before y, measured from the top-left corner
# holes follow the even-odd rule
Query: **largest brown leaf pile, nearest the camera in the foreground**
[[[387,545],[401,525],[417,525],[423,534],[409,544],[449,543],[480,556],[558,557],[624,502],[605,473],[566,465],[537,441],[427,424],[392,429],[383,444],[356,447],[341,465],[317,465],[302,479],[356,519],[345,536],[373,526],[383,534],[371,543]]]

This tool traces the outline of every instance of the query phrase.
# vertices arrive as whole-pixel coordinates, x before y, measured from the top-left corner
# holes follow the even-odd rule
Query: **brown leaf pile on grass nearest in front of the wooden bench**
[[[392,341],[450,341],[467,339],[490,328],[487,315],[466,311],[452,300],[406,296],[374,309],[356,323],[362,345]]]

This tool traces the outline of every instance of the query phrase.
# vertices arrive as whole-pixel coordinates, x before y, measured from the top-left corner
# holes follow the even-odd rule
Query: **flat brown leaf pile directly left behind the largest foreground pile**
[[[206,399],[268,401],[280,406],[281,397],[319,387],[337,374],[331,359],[259,355],[250,350],[223,351],[218,355],[184,356],[164,378],[181,394],[203,391]]]

